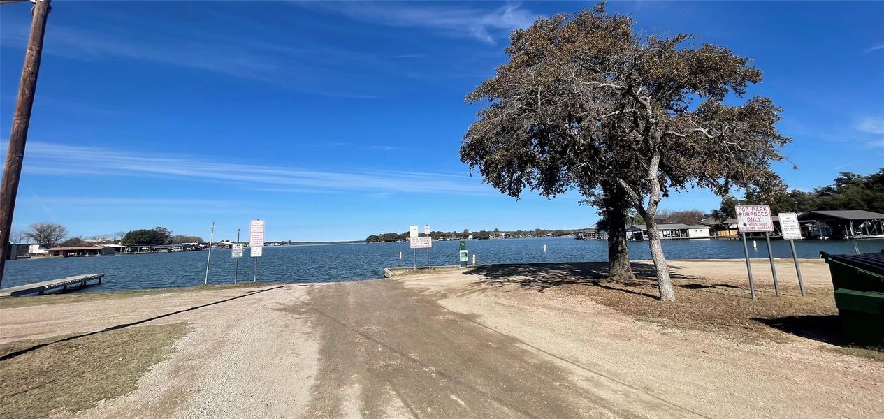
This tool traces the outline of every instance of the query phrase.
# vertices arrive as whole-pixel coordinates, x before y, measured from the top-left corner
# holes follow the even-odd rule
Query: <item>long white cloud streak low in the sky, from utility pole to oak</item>
[[[91,176],[112,171],[115,176],[220,181],[252,189],[299,192],[357,191],[407,194],[493,194],[491,187],[467,175],[446,173],[354,170],[323,171],[262,164],[205,161],[190,156],[147,155],[110,149],[74,147],[50,142],[28,143],[26,171],[36,175]],[[282,189],[280,189],[282,188]]]

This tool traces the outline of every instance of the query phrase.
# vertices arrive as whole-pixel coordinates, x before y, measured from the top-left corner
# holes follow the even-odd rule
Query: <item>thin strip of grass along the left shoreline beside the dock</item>
[[[38,306],[41,304],[65,304],[70,302],[85,302],[96,300],[116,300],[123,298],[141,297],[158,293],[194,293],[198,291],[254,288],[258,286],[271,286],[274,282],[240,282],[238,284],[221,284],[209,286],[186,286],[181,288],[158,288],[150,290],[121,290],[108,293],[50,293],[46,295],[30,295],[22,297],[0,298],[0,309],[14,309],[18,307]]]

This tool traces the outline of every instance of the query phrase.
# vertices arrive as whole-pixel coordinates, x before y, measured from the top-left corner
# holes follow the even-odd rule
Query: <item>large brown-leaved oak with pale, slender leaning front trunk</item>
[[[771,162],[789,139],[776,130],[780,109],[770,99],[726,103],[761,81],[749,59],[690,35],[636,34],[633,25],[600,3],[515,31],[509,61],[467,96],[486,107],[461,160],[512,196],[576,188],[603,206],[613,231],[613,217],[636,209],[660,299],[674,301],[656,229],[660,200],[690,187],[727,194],[775,183]]]

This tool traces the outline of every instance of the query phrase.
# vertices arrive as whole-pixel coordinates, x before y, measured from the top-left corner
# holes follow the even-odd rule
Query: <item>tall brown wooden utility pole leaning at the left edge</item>
[[[15,103],[9,149],[6,151],[6,164],[3,168],[3,180],[0,183],[0,285],[3,284],[9,232],[12,228],[12,215],[15,212],[15,197],[19,193],[21,162],[25,158],[27,126],[31,122],[31,109],[34,107],[34,92],[37,89],[37,73],[40,72],[43,34],[46,33],[46,18],[50,14],[50,3],[51,0],[34,0],[32,11],[34,19],[31,21],[31,35],[27,38],[25,65],[21,70],[19,97]]]

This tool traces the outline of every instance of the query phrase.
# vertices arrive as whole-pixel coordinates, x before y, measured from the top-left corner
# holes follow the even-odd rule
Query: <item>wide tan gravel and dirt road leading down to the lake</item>
[[[0,309],[0,343],[145,319],[190,324],[136,391],[72,414],[82,417],[884,413],[880,362],[808,339],[667,329],[460,270],[263,290]]]

